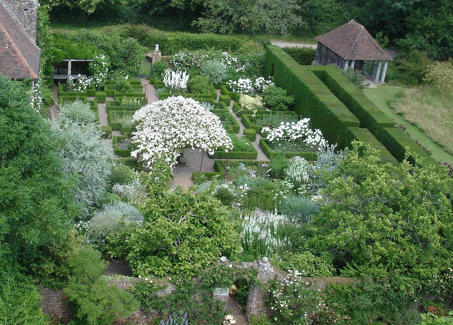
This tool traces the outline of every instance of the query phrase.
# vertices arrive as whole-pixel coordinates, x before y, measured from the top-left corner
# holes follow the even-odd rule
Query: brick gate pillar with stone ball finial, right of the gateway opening
[[[267,283],[271,278],[275,278],[275,270],[267,257],[258,261],[258,274],[256,280],[260,283]],[[246,306],[246,319],[250,321],[251,315],[266,314],[267,307],[265,300],[269,296],[269,292],[252,283],[249,289],[249,297]]]

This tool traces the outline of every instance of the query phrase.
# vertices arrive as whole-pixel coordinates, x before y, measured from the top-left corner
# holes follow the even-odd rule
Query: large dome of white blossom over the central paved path
[[[172,96],[146,105],[135,112],[132,122],[136,149],[131,156],[139,157],[150,170],[159,160],[173,167],[184,147],[210,155],[222,146],[226,152],[233,148],[220,118],[191,98]]]

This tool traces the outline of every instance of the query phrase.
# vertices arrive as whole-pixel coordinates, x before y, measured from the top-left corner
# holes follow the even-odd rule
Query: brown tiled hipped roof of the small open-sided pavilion
[[[365,27],[353,19],[316,39],[346,60],[392,60]]]

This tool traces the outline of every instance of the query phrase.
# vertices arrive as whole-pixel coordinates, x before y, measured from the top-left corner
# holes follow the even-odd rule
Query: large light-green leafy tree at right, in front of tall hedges
[[[448,180],[407,160],[382,164],[378,151],[353,143],[324,176],[328,204],[308,226],[308,247],[332,252],[344,274],[400,279],[413,293],[451,265]]]

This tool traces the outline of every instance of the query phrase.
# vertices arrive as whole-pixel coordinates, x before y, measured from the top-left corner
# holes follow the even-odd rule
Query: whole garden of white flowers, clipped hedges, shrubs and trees
[[[451,171],[336,68],[226,35],[58,35],[43,64],[93,60],[58,116],[0,76],[0,323],[453,323]]]

